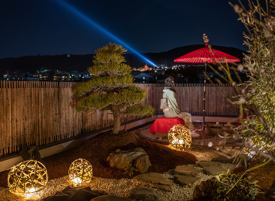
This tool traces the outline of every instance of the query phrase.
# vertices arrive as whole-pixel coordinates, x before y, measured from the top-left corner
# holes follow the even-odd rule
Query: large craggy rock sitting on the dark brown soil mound
[[[111,167],[125,169],[132,165],[140,173],[146,173],[148,167],[151,165],[149,156],[142,148],[133,148],[121,151],[115,150],[107,157],[107,162]]]

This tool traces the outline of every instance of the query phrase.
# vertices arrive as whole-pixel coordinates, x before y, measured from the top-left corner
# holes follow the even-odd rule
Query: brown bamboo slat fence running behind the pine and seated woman
[[[0,156],[22,150],[31,144],[48,144],[113,125],[110,111],[79,113],[77,82],[0,81]],[[155,113],[159,109],[164,84],[135,84],[147,89],[144,104]],[[176,84],[178,106],[192,115],[203,115],[203,84]],[[230,85],[207,84],[206,115],[238,116]],[[220,90],[220,91],[219,91]],[[221,94],[226,94],[223,97]],[[129,116],[128,120],[138,118]],[[121,116],[121,122],[125,122]]]

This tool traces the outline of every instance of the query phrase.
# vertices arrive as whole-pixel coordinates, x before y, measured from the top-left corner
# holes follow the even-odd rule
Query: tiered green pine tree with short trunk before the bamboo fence
[[[123,63],[126,51],[111,42],[97,49],[94,65],[88,68],[93,79],[74,89],[76,96],[83,96],[75,108],[77,111],[111,110],[114,134],[119,133],[121,115],[154,116],[151,106],[141,104],[146,98],[146,89],[132,84],[131,67]]]

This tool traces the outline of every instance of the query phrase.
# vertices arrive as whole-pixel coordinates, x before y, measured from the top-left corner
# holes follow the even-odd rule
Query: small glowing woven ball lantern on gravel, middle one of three
[[[92,165],[85,159],[77,159],[69,168],[69,178],[75,185],[81,185],[91,181],[93,176]]]

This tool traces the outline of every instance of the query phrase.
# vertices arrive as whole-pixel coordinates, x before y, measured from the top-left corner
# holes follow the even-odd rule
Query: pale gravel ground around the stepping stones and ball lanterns
[[[156,134],[150,134],[149,132],[149,127],[150,125],[144,126],[139,131],[141,132],[142,135],[153,138],[153,139],[158,139],[158,133]],[[201,136],[199,138],[193,138],[192,139],[192,144],[202,144],[202,145],[207,145],[209,142],[212,142],[213,145],[219,145],[219,142],[222,140],[219,137],[211,137],[207,136],[205,134],[205,131],[202,130],[201,125],[195,125],[195,130],[197,133],[199,133]],[[131,131],[135,133],[135,131]],[[167,140],[167,134],[163,134],[163,140]],[[233,141],[234,142],[234,141]],[[233,143],[232,142],[232,143]],[[232,150],[229,149],[221,149],[223,152],[226,153],[231,153]],[[194,152],[194,151],[189,151],[190,153],[194,154],[197,157],[197,160],[209,160],[209,158],[205,157],[202,153],[200,152]],[[194,165],[188,165],[190,167],[194,167]],[[223,164],[223,168],[225,169],[233,169],[235,166],[232,164]],[[195,167],[197,169],[202,169],[199,167]],[[187,201],[187,200],[192,200],[192,195],[193,195],[193,190],[194,188],[183,188],[177,183],[175,183],[175,179],[172,175],[172,170],[169,170],[162,175],[170,181],[173,185],[173,191],[172,192],[166,192],[164,190],[156,189],[162,199],[160,201]],[[202,178],[200,178],[201,181],[205,181],[213,176],[209,175],[203,175]],[[37,199],[38,201],[43,200],[43,198],[47,196],[54,195],[57,191],[62,191],[67,185],[70,185],[71,182],[68,179],[68,176],[61,177],[59,179],[52,179],[48,181],[46,188],[40,195],[40,199]],[[90,186],[92,190],[102,190],[105,191],[107,194],[110,195],[117,195],[124,197],[125,193],[130,190],[131,188],[136,188],[138,186],[142,185],[135,185],[131,182],[130,179],[104,179],[100,177],[93,177],[91,182],[88,184],[83,185],[85,186]],[[8,188],[2,188],[0,187],[0,201],[18,201],[22,200],[22,198],[19,198],[18,196],[12,194],[9,192]],[[24,199],[25,200],[25,199]],[[28,199],[28,200],[35,200],[35,199]],[[25,200],[27,201],[27,200]]]

